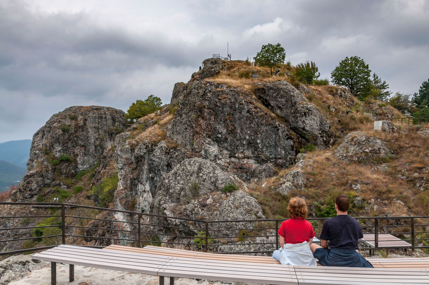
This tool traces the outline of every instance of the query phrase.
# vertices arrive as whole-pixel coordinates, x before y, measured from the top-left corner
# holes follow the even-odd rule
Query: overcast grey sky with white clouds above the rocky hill
[[[429,78],[429,1],[0,0],[0,143],[69,106],[169,103],[212,54],[277,43],[329,76],[364,58],[393,92]]]

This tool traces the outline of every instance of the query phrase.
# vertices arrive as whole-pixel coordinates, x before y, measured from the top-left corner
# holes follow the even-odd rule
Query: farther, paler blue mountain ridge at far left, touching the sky
[[[0,143],[0,160],[16,164],[27,168],[27,161],[30,158],[31,139],[11,140]]]

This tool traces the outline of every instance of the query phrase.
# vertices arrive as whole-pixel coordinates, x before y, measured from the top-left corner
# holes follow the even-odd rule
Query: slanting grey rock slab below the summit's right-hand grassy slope
[[[331,143],[329,121],[289,82],[258,83],[255,93],[267,108],[284,118],[308,143],[317,146]]]

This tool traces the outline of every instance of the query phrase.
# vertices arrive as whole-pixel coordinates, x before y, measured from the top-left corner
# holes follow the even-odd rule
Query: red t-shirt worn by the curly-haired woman
[[[281,223],[278,234],[284,237],[285,243],[309,242],[314,237],[311,223],[304,218],[293,218]]]

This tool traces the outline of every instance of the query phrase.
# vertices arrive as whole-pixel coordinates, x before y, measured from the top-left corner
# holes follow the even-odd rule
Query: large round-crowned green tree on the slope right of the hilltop
[[[363,59],[346,57],[331,72],[334,84],[347,87],[351,94],[363,100],[371,91],[371,70]]]

